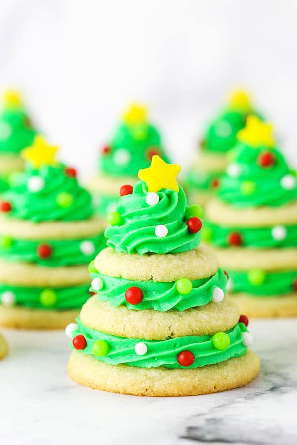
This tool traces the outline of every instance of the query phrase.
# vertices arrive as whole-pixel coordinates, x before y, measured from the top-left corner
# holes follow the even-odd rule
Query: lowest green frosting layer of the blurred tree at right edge
[[[265,273],[264,271],[239,272],[228,270],[232,292],[247,292],[259,297],[279,297],[294,292],[297,271]]]

